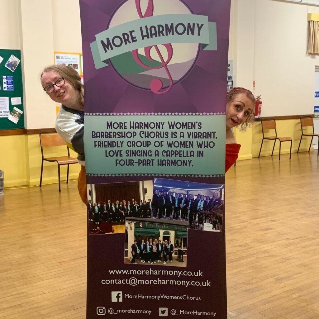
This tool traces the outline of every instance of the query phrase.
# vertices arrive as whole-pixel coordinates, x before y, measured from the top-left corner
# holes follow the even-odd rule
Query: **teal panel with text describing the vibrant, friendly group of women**
[[[225,174],[225,115],[86,116],[84,136],[88,174]]]

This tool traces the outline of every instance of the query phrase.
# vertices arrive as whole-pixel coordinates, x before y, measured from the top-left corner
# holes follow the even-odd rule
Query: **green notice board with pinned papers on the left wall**
[[[8,100],[10,113],[12,112],[13,108],[24,111],[22,72],[20,62],[21,51],[0,49],[0,61],[0,130],[23,129],[24,113],[22,113],[18,122],[14,123],[8,119],[8,110],[6,108],[6,100]],[[19,112],[17,112],[17,114],[18,113]]]

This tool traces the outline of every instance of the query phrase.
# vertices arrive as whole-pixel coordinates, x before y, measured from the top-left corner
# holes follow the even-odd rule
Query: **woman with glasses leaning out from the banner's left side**
[[[78,72],[65,65],[50,65],[41,73],[43,90],[51,100],[61,103],[56,117],[56,131],[66,144],[78,152],[81,171],[78,177],[78,191],[87,204],[85,158],[84,158],[84,91]]]

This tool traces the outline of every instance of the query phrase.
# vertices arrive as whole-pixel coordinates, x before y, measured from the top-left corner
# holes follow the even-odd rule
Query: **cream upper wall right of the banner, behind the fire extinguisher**
[[[308,12],[318,6],[276,0],[232,0],[230,54],[236,84],[262,95],[262,116],[313,113],[319,56],[307,54]],[[236,47],[236,48],[234,48]]]

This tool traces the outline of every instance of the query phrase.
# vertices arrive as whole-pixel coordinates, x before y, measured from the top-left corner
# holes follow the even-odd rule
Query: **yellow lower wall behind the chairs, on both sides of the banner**
[[[293,139],[292,152],[296,153],[301,136],[300,120],[280,120],[277,123],[277,134],[280,137],[290,136]],[[269,132],[271,135],[273,133]],[[254,122],[246,132],[234,130],[236,140],[241,144],[238,160],[258,157],[262,130],[261,123]],[[307,152],[310,144],[310,137],[303,137],[300,151]],[[4,187],[20,185],[39,185],[41,172],[41,148],[39,135],[13,135],[0,136],[0,145],[3,147],[4,156],[0,157],[0,169],[4,170]],[[261,156],[269,156],[272,151],[272,141],[264,141]],[[290,143],[284,142],[281,154],[289,153]],[[313,149],[313,148],[311,148]],[[279,153],[279,143],[276,142],[274,155]],[[44,153],[45,156],[66,155],[66,148],[53,147]],[[70,150],[70,155],[76,157],[76,153]],[[80,170],[80,165],[70,166],[70,179],[76,179]],[[61,167],[61,180],[66,180],[66,166]],[[56,163],[44,163],[43,184],[57,182]],[[145,186],[146,187],[146,186]]]

